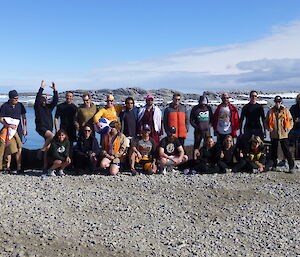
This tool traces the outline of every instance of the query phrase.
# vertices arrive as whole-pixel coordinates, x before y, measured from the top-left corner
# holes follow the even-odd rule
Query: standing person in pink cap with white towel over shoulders
[[[163,134],[162,112],[154,103],[154,97],[146,97],[146,105],[141,107],[138,113],[138,132],[144,124],[148,124],[151,129],[150,136],[159,145],[159,137]]]

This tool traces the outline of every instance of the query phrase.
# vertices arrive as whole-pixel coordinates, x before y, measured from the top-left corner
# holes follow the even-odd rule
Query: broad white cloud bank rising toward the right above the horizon
[[[253,42],[184,49],[153,59],[95,68],[89,74],[71,77],[58,74],[57,81],[68,89],[139,86],[186,91],[299,90],[299,45],[300,21],[295,21],[274,27],[270,35]]]

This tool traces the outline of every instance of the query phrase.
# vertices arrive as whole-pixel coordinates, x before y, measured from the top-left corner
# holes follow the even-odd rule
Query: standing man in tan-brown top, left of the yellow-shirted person
[[[89,94],[82,96],[83,104],[79,106],[75,116],[75,127],[79,131],[85,125],[92,126],[94,115],[97,113],[97,106],[91,101]]]

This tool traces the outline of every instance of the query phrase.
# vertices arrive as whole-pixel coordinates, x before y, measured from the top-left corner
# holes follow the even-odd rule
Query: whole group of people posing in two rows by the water
[[[146,97],[143,107],[137,108],[132,97],[127,97],[124,105],[115,105],[114,96],[109,94],[106,105],[98,108],[89,94],[82,96],[83,103],[77,107],[73,92],[67,91],[65,101],[58,104],[55,83],[50,87],[51,102],[44,94],[42,81],[34,103],[36,131],[45,141],[38,158],[43,159],[43,169],[49,176],[63,176],[67,166],[85,172],[104,170],[110,175],[122,169],[129,169],[132,175],[178,170],[184,174],[263,172],[276,170],[279,143],[289,171],[295,172],[289,136],[292,141],[299,136],[300,94],[290,111],[276,96],[274,107],[266,115],[254,90],[241,115],[230,103],[228,93],[222,95],[222,103],[214,112],[208,98],[202,95],[188,115],[179,93],[162,112],[152,95]],[[0,122],[0,169],[9,170],[11,155],[15,154],[17,170],[21,172],[22,136],[27,135],[27,124],[26,109],[18,101],[16,90],[9,92],[8,102],[0,107]],[[190,124],[194,128],[194,147],[189,159],[184,143]],[[270,131],[270,158],[264,146],[266,130]],[[100,134],[100,144],[95,132]]]

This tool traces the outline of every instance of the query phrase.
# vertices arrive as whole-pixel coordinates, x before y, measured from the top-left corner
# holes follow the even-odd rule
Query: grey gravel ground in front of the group
[[[0,256],[299,256],[300,172],[0,175]]]

